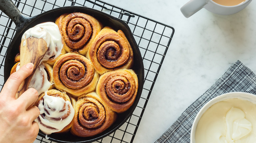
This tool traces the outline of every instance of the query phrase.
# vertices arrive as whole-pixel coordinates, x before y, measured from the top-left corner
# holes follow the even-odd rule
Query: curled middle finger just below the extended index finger
[[[34,88],[29,88],[17,99],[18,103],[22,104],[25,110],[32,106],[38,98],[38,92]]]

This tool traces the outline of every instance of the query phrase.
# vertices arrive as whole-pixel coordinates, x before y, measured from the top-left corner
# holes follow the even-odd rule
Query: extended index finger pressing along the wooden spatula
[[[18,71],[11,74],[2,89],[3,95],[15,98],[15,94],[20,84],[32,73],[33,67],[34,65],[32,63],[28,63],[22,66]]]

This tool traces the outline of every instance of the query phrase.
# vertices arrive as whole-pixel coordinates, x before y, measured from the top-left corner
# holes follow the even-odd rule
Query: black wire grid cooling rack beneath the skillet
[[[98,140],[99,143],[133,142],[140,120],[154,87],[163,59],[174,34],[174,28],[155,20],[119,8],[101,0],[12,0],[25,16],[34,16],[47,10],[64,6],[94,8],[125,21],[143,58],[144,86],[139,103],[132,116],[114,133]],[[0,89],[4,84],[4,60],[7,48],[15,34],[15,24],[0,11]],[[53,143],[40,136],[34,143]]]

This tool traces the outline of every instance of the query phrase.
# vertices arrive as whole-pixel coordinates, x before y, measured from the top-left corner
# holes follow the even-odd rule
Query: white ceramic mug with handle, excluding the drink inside
[[[235,6],[223,6],[212,0],[190,0],[181,7],[181,12],[186,18],[189,18],[202,8],[220,15],[230,15],[243,10],[251,1],[245,0],[243,3]]]

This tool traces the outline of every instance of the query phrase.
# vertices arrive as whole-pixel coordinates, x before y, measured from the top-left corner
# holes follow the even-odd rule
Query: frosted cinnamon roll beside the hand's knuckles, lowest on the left
[[[50,135],[69,131],[75,115],[74,99],[59,90],[51,89],[43,93],[34,105],[40,110],[35,121],[43,133]]]

